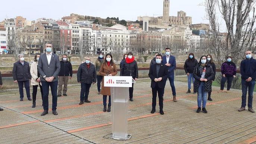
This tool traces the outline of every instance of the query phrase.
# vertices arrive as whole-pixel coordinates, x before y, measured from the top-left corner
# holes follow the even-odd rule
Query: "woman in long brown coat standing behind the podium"
[[[113,62],[112,55],[107,54],[104,60],[104,63],[101,65],[101,69],[99,70],[99,74],[103,76],[102,87],[101,87],[101,95],[103,95],[103,112],[107,111],[107,96],[108,96],[108,112],[110,112],[111,107],[111,94],[110,87],[104,87],[104,76],[116,76],[117,68]]]

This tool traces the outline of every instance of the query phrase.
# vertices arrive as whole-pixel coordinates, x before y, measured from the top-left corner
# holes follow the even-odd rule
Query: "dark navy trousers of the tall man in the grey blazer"
[[[49,86],[51,87],[51,95],[53,96],[53,105],[52,105],[52,111],[56,111],[57,109],[57,87],[58,87],[58,81],[53,82],[47,82],[47,81],[41,81],[42,83],[42,90],[43,90],[43,103],[44,103],[44,110],[48,111],[49,109],[49,102],[48,102],[48,96],[49,96]]]

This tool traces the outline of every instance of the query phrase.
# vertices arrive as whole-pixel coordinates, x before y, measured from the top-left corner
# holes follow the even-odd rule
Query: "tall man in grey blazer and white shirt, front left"
[[[51,87],[51,95],[53,96],[52,111],[54,115],[58,115],[57,109],[57,87],[58,87],[58,74],[60,72],[60,59],[59,56],[52,52],[52,44],[45,44],[46,53],[42,54],[38,60],[38,72],[43,90],[43,103],[44,112],[41,116],[48,113],[48,95],[49,86]]]

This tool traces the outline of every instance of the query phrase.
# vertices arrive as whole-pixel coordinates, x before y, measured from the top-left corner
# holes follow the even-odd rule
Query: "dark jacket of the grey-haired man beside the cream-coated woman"
[[[31,80],[32,77],[30,74],[29,63],[26,61],[24,61],[24,65],[22,65],[20,61],[14,63],[12,69],[12,76],[13,80],[17,81]]]

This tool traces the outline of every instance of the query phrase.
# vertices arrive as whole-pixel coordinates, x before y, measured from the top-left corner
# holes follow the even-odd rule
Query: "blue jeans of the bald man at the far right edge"
[[[255,80],[247,82],[246,80],[242,79],[242,105],[241,107],[245,108],[246,106],[246,95],[247,95],[247,88],[248,88],[248,108],[252,108],[252,99],[253,99],[253,90],[255,86]]]

